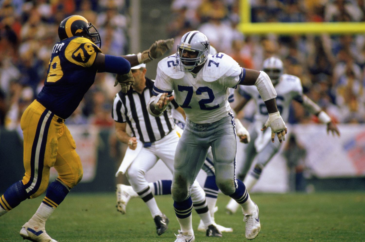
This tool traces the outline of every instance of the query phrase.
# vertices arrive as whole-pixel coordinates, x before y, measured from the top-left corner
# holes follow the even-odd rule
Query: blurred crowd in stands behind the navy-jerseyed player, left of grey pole
[[[58,25],[78,14],[93,23],[102,36],[105,54],[128,51],[128,4],[125,0],[1,0],[0,1],[0,125],[19,134],[24,109],[41,90]],[[113,125],[111,104],[114,76],[98,74],[68,124]]]

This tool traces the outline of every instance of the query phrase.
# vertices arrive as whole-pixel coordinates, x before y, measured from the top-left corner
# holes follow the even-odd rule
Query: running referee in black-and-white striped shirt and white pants
[[[147,112],[147,102],[153,96],[154,81],[145,76],[146,64],[132,67],[131,70],[134,86],[126,94],[120,91],[115,95],[112,117],[115,120],[118,140],[128,144],[128,148],[131,150],[136,150],[137,145],[143,146],[128,166],[126,176],[133,190],[149,208],[154,218],[157,234],[161,235],[168,229],[169,219],[158,208],[145,174],[157,163],[158,159],[166,164],[171,173],[173,172],[175,150],[181,133],[177,129],[175,130],[171,109],[181,112],[184,117],[185,112],[175,100],[172,100],[169,104],[170,107],[161,116],[151,116]],[[197,181],[193,183],[191,193],[194,209],[204,222],[207,236],[222,236],[213,225],[204,190]]]

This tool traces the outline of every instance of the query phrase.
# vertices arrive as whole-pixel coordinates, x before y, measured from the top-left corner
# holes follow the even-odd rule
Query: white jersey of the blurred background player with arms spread
[[[283,74],[280,76],[279,83],[275,86],[276,105],[284,122],[288,122],[289,107],[295,96],[303,95],[303,87],[297,76]],[[239,93],[246,99],[253,98],[256,105],[255,119],[264,126],[268,120],[268,110],[264,101],[261,99],[259,92],[255,86],[239,86]]]

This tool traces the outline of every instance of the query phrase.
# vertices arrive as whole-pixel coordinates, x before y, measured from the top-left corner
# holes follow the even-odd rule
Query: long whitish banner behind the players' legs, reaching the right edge
[[[306,166],[318,178],[339,178],[365,176],[365,125],[342,124],[338,126],[341,136],[327,135],[323,124],[298,124],[288,126],[297,140],[307,150]],[[288,140],[287,140],[288,141]],[[288,191],[288,170],[281,150],[262,171],[260,180],[253,192],[285,193]],[[275,142],[278,142],[276,139]],[[237,170],[242,166],[245,144],[237,144]],[[237,173],[237,172],[236,172]],[[204,185],[205,172],[199,172],[197,180]],[[171,179],[172,175],[165,164],[159,161],[146,174],[147,180]]]

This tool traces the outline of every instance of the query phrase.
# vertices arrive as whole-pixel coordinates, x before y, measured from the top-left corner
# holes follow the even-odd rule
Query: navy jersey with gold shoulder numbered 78
[[[68,118],[94,83],[97,70],[91,66],[99,52],[99,47],[84,37],[58,41],[53,47],[38,102],[55,115]]]

